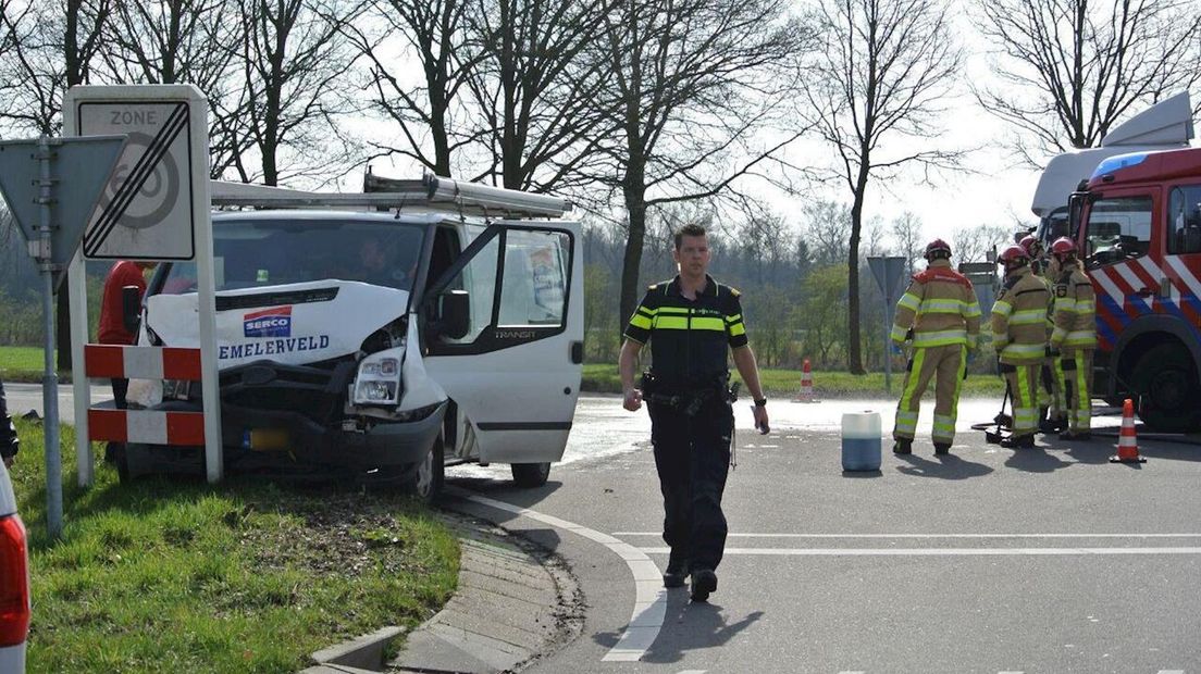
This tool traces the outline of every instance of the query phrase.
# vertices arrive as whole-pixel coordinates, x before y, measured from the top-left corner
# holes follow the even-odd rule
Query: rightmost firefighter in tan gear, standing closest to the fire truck
[[[1093,374],[1093,351],[1097,349],[1097,323],[1093,317],[1097,297],[1093,283],[1076,258],[1076,243],[1066,236],[1051,245],[1054,271],[1054,330],[1051,350],[1054,377],[1064,392],[1068,429],[1062,440],[1087,440],[1091,437],[1093,402],[1089,380]]]

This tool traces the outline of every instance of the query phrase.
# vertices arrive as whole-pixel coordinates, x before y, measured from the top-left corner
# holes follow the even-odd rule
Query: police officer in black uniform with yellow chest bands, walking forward
[[[725,548],[722,492],[734,433],[727,350],[754,398],[755,427],[767,432],[767,401],[747,344],[739,291],[709,276],[711,252],[705,228],[687,224],[671,253],[679,276],[651,285],[626,329],[619,369],[629,411],[647,403],[651,444],[663,492],[663,540],[671,547],[663,574],[667,588],[692,577],[692,600],[717,590]],[[651,369],[634,385],[643,345],[651,343]]]

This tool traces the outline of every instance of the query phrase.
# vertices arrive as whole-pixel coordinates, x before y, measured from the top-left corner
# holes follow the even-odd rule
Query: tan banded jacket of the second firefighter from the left
[[[1046,355],[1051,293],[1026,266],[1005,277],[992,305],[992,345],[1006,365],[1036,365]]]

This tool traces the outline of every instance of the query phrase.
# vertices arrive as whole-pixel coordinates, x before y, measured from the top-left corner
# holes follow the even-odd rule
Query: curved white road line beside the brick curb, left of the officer
[[[659,567],[655,565],[651,558],[646,556],[646,553],[608,534],[581,526],[574,522],[543,514],[538,511],[496,499],[489,499],[488,497],[480,497],[456,487],[448,487],[446,491],[468,501],[528,517],[557,529],[578,534],[609,548],[626,562],[631,574],[634,577],[634,609],[631,613],[629,625],[626,627],[626,631],[621,633],[617,643],[609,649],[609,652],[600,658],[602,662],[637,662],[651,648],[655,639],[658,638],[659,628],[663,627],[663,619],[668,612],[668,592],[663,588],[663,574],[659,572]]]

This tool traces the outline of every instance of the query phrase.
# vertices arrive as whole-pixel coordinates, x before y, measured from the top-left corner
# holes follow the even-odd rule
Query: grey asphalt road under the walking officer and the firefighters
[[[767,437],[739,413],[709,604],[647,573],[667,562],[649,423],[616,398],[581,401],[544,488],[500,467],[449,483],[579,577],[584,634],[534,672],[1201,672],[1201,446],[1142,439],[1136,467],[1111,438],[1003,450],[966,429],[997,402],[967,401],[954,456],[927,409],[913,456],[843,474],[842,411],[890,408],[777,402]]]

